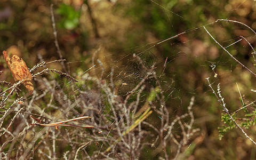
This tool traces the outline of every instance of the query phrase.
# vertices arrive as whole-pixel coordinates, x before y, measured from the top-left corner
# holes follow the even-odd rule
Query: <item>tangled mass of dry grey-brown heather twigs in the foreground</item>
[[[133,58],[146,73],[124,97],[117,93],[114,69],[110,79],[92,77],[88,73],[74,78],[54,69],[36,73],[38,68],[47,65],[41,62],[30,69],[36,85],[29,96],[22,91],[21,81],[1,82],[1,157],[138,159],[148,151],[151,151],[150,156],[165,159],[185,156],[184,148],[198,131],[193,129],[194,97],[187,114],[171,119],[154,65],[147,68],[138,56]],[[53,74],[59,74],[59,78],[54,78]],[[150,85],[153,80],[155,83]],[[90,120],[80,119],[72,124],[93,128],[59,126],[56,130],[51,125],[30,125],[35,123],[31,116],[41,124],[59,124],[55,122],[91,116]],[[158,122],[150,119],[158,119]],[[180,132],[174,134],[177,128]]]

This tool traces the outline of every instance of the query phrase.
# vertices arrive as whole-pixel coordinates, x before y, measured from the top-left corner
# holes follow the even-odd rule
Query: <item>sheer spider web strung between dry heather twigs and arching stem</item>
[[[207,26],[207,28],[210,29],[214,28],[215,26],[222,27],[224,29],[228,26],[231,26],[233,30],[236,30],[236,28],[247,30],[247,28],[244,28],[243,26],[241,27],[236,24],[230,24],[230,22],[225,22],[223,24],[213,23],[207,24],[205,26]],[[182,35],[189,35],[193,32],[202,32],[205,35],[207,35],[202,27],[197,27],[185,31]],[[218,33],[215,33],[215,36],[218,37],[218,35]],[[252,34],[250,36],[247,36],[247,38],[250,39],[253,36],[254,35]],[[80,76],[83,76],[84,74],[92,74],[101,79],[101,82],[106,81],[102,82],[102,84],[112,82],[113,86],[116,87],[118,85],[116,89],[114,89],[113,87],[113,91],[115,92],[115,94],[119,95],[119,98],[121,100],[125,100],[127,95],[129,94],[131,94],[132,99],[135,98],[138,95],[138,93],[140,93],[139,89],[141,89],[140,87],[136,89],[135,86],[137,86],[142,81],[142,79],[145,78],[148,72],[147,68],[149,69],[154,65],[153,71],[155,71],[157,78],[159,82],[161,82],[161,85],[163,87],[163,90],[161,90],[161,92],[163,92],[165,95],[165,101],[168,104],[166,106],[169,106],[170,103],[170,106],[173,106],[172,108],[168,108],[170,113],[173,113],[170,115],[171,119],[174,119],[175,115],[182,115],[187,110],[186,108],[188,106],[188,97],[198,97],[198,99],[200,99],[200,107],[204,107],[205,103],[209,103],[209,101],[207,101],[207,97],[209,97],[209,92],[211,93],[211,91],[210,89],[205,90],[204,88],[206,86],[206,77],[211,77],[214,83],[221,82],[222,86],[225,89],[226,87],[230,87],[230,85],[234,86],[235,82],[237,81],[239,81],[239,83],[243,83],[243,79],[239,79],[236,76],[231,84],[230,82],[225,82],[227,81],[227,79],[230,79],[231,75],[233,75],[230,75],[230,73],[234,73],[236,69],[240,70],[241,74],[246,74],[248,73],[248,71],[244,70],[243,67],[238,66],[234,59],[230,58],[230,56],[225,51],[218,49],[218,47],[216,47],[217,45],[214,44],[213,41],[211,41],[211,47],[203,47],[202,50],[205,51],[200,51],[200,49],[197,49],[196,47],[200,47],[199,45],[197,45],[197,43],[204,45],[202,41],[198,40],[201,37],[195,36],[193,38],[186,39],[186,41],[182,41],[182,43],[175,41],[175,38],[179,38],[179,36],[175,35],[174,37],[167,37],[166,39],[162,39],[161,41],[156,41],[143,46],[132,47],[130,49],[118,52],[111,52],[110,54],[101,56],[101,58],[99,58],[100,56],[97,56],[97,54],[101,54],[99,51],[98,53],[93,54],[93,56],[95,55],[95,57],[94,65],[92,65],[92,68],[89,68],[89,70],[86,70],[85,73],[83,72],[83,74],[81,74]],[[239,36],[233,36],[231,38],[227,38],[227,40],[222,40],[221,44],[227,49],[231,47],[232,49],[230,49],[230,52],[235,55],[239,54],[236,53],[235,46],[239,45],[238,41]],[[162,47],[166,44],[172,45],[174,47],[172,53],[167,55],[158,54],[156,52],[156,48]],[[193,48],[193,45],[197,46],[194,46]],[[207,53],[207,50],[210,50],[209,53]],[[250,52],[253,51],[251,50]],[[136,59],[136,57],[139,57],[141,61]],[[252,57],[250,58],[250,63],[246,64],[249,64],[249,66],[252,67],[253,59]],[[108,59],[108,61],[105,61],[104,59]],[[240,59],[244,62],[243,57],[240,57]],[[189,69],[190,67],[191,69]],[[240,73],[240,71],[238,72]],[[221,81],[221,79],[223,80]],[[180,86],[180,84],[186,83],[187,85]],[[147,81],[143,84],[146,84],[146,87],[148,87],[147,92],[150,92],[150,87],[156,86],[156,81],[154,81],[154,79],[148,78]],[[191,86],[190,84],[194,85]],[[200,94],[206,95],[206,100],[203,99],[201,97],[202,95]],[[92,97],[93,96],[94,94],[92,95]],[[239,100],[238,94],[230,96],[234,96],[236,102]],[[143,102],[147,101],[147,94],[140,94],[140,97],[140,103],[141,106],[143,106]],[[106,97],[101,98],[103,101],[107,101]],[[170,99],[171,102],[169,101]],[[235,111],[239,107],[242,107],[242,105],[234,106],[233,111]],[[210,106],[209,108],[210,110],[221,110],[221,108],[219,108],[218,106]],[[232,108],[232,106],[230,106],[230,108]],[[100,109],[102,109],[102,111],[104,112],[107,110],[111,110],[111,107],[102,107]],[[207,108],[205,109],[207,110]],[[124,109],[122,114],[118,114],[119,122],[120,119],[124,118],[126,111],[127,108]],[[160,125],[160,121],[162,118],[160,114],[156,114],[154,116],[152,116],[151,118],[147,118],[147,122],[158,128],[157,126]],[[158,118],[158,121],[156,120],[156,118]],[[185,123],[188,123],[189,119],[185,118],[183,119],[183,121]],[[183,131],[180,129],[181,126],[177,123],[174,125],[174,127],[176,127],[177,129],[173,131],[173,136],[176,139],[179,139],[179,136],[183,133]],[[150,129],[148,128],[146,129],[146,131],[150,131]],[[104,153],[103,148],[105,146],[106,139],[109,138],[109,133],[111,133],[111,130],[105,133],[105,141],[103,141],[102,143],[100,142],[99,154]],[[133,133],[135,133],[135,131]],[[151,144],[151,147],[155,148],[156,150],[157,148],[159,148],[158,138],[159,137],[155,135],[155,139]],[[156,144],[154,145],[154,143]],[[156,151],[156,153],[158,152]]]

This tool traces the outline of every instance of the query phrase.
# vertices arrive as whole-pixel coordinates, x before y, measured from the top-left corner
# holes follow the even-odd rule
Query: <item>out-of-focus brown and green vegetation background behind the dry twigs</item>
[[[253,85],[255,76],[230,58],[202,28],[206,25],[221,45],[228,46],[227,50],[238,61],[255,72],[256,62],[249,43],[244,39],[237,42],[241,39],[239,36],[243,36],[254,47],[255,34],[238,23],[215,22],[217,19],[235,20],[256,30],[255,3],[242,0],[1,0],[0,49],[18,55],[29,68],[41,61],[61,59],[54,43],[50,9],[53,4],[57,39],[66,62],[65,68],[60,63],[52,63],[48,68],[62,70],[76,78],[85,71],[99,78],[103,66],[106,81],[110,81],[111,68],[114,68],[114,84],[127,84],[116,89],[124,99],[126,93],[140,82],[138,75],[145,72],[133,60],[133,54],[138,55],[146,67],[156,63],[155,71],[164,89],[170,123],[176,116],[187,113],[190,98],[195,97],[193,127],[200,131],[181,150],[187,154],[184,159],[255,159],[253,143],[236,127],[227,129],[222,126],[228,126],[222,121],[225,112],[205,79],[210,77],[215,90],[220,83],[226,107],[234,113],[243,106],[241,96],[245,103],[255,100],[255,92],[251,91],[256,90]],[[180,33],[183,34],[171,38]],[[229,46],[232,43],[235,44]],[[0,68],[6,70],[1,57]],[[216,73],[218,76],[214,77]],[[0,78],[14,83],[10,71],[6,70]],[[38,86],[35,83],[35,88]],[[247,110],[235,114],[240,118],[238,124],[250,122],[245,131],[252,139],[256,134],[254,111],[253,103]],[[156,118],[149,116],[146,121],[157,126]],[[181,133],[179,129],[175,132]],[[219,132],[223,133],[221,140]],[[138,158],[164,157],[162,151],[156,149],[157,153],[154,153],[152,149],[156,147],[145,147]],[[59,151],[58,154],[63,153]]]

